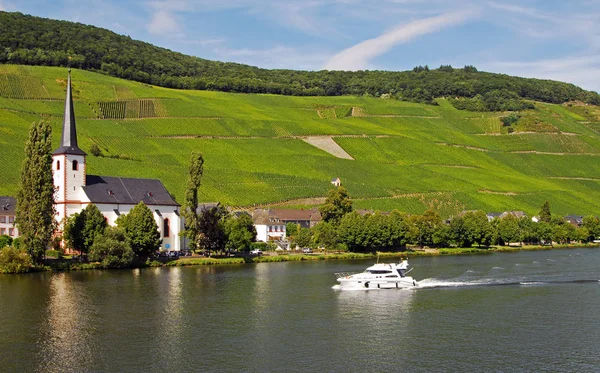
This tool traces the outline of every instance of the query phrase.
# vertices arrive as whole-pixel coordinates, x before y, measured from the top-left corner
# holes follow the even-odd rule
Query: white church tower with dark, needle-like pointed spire
[[[84,197],[83,186],[86,182],[86,153],[77,146],[77,129],[73,110],[73,94],[71,90],[71,70],[67,82],[65,98],[65,114],[63,118],[60,147],[52,153],[52,173],[54,177],[55,203],[57,221],[69,216],[71,211],[81,210]]]

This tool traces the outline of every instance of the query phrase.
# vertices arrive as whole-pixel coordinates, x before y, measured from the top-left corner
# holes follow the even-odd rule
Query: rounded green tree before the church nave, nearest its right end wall
[[[123,231],[126,242],[134,254],[145,260],[154,254],[162,243],[158,225],[152,211],[144,202],[135,205],[127,215],[117,219],[117,226]]]

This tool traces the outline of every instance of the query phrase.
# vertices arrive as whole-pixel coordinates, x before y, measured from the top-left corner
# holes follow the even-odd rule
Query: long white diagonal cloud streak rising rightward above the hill
[[[464,23],[475,14],[476,12],[473,11],[452,12],[399,25],[376,38],[343,50],[327,61],[323,68],[326,70],[365,69],[371,59],[386,53],[394,46],[448,26]]]

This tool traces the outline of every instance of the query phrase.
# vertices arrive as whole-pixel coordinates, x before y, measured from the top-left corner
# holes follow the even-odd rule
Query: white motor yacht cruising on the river
[[[335,288],[342,290],[370,290],[370,289],[405,289],[414,288],[418,283],[407,274],[408,260],[400,263],[377,263],[361,273],[336,273],[339,285]]]

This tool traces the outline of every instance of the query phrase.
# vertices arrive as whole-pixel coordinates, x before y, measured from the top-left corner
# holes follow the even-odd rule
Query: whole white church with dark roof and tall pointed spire
[[[52,153],[56,220],[60,224],[65,217],[94,204],[109,225],[116,225],[120,215],[127,214],[141,201],[154,214],[162,237],[161,250],[184,248],[183,238],[179,236],[183,229],[181,206],[160,180],[88,175],[86,155],[77,145],[69,70],[60,147]]]

